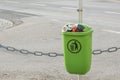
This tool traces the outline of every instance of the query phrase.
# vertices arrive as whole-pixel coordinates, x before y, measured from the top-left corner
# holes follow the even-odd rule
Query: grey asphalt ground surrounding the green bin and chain
[[[0,44],[31,51],[62,53],[61,28],[78,23],[77,0],[0,0],[0,18],[13,27],[0,29]],[[93,49],[120,45],[120,2],[84,0],[83,23],[93,30]],[[86,80],[119,80],[120,51],[93,56]],[[1,80],[76,80],[65,71],[63,57],[35,57],[0,49]]]

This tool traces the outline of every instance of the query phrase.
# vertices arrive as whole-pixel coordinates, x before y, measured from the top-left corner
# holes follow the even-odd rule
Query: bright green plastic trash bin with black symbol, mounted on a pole
[[[64,62],[71,74],[85,74],[92,58],[92,28],[85,24],[84,32],[62,32]]]

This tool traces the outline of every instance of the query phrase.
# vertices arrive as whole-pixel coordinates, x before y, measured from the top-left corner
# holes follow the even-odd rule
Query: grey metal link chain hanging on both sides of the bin
[[[49,57],[57,57],[57,56],[63,56],[63,54],[59,54],[59,53],[56,53],[56,52],[49,52],[49,53],[43,53],[41,51],[34,51],[34,52],[31,52],[29,50],[25,50],[25,49],[16,49],[14,47],[11,47],[11,46],[3,46],[0,44],[0,48],[4,48],[6,49],[7,51],[11,51],[11,52],[19,52],[19,53],[22,53],[22,54],[33,54],[35,56],[49,56]],[[93,55],[99,55],[99,54],[102,54],[104,52],[107,52],[107,53],[112,53],[112,52],[116,52],[120,49],[120,47],[110,47],[106,50],[101,50],[101,49],[97,49],[97,50],[93,50],[92,51],[92,54]]]

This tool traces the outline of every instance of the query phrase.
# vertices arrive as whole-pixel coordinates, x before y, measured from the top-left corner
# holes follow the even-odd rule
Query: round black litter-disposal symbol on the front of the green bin
[[[79,53],[81,50],[81,43],[76,39],[69,40],[67,43],[67,49],[71,53]]]

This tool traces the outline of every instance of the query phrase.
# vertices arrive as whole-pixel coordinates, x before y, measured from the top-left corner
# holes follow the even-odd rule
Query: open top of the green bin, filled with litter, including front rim
[[[62,32],[65,35],[87,35],[93,30],[86,24],[66,24],[62,28]]]

